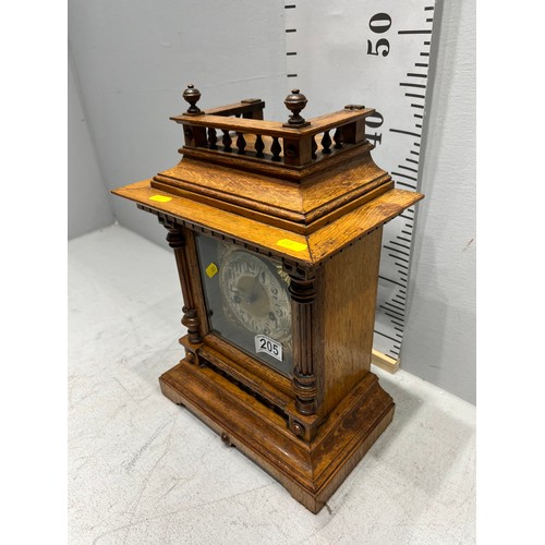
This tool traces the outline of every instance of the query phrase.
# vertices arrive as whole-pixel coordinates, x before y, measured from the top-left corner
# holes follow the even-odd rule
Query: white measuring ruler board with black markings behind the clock
[[[396,186],[419,186],[434,0],[286,0],[291,88],[307,94],[305,117],[348,104],[367,118],[372,156]],[[397,367],[403,339],[415,209],[384,228],[374,362]],[[377,361],[378,360],[378,361]]]

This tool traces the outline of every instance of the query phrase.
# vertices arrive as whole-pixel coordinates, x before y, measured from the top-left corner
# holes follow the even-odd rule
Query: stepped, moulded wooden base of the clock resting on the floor
[[[217,432],[317,513],[393,417],[395,403],[367,373],[329,414],[310,443],[274,410],[199,359],[166,372],[162,393]]]

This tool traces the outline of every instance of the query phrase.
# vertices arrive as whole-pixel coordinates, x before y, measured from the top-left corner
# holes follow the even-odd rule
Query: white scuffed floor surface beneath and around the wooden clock
[[[475,542],[473,405],[375,370],[393,423],[314,516],[161,395],[180,318],[168,250],[119,226],[69,243],[71,545]]]

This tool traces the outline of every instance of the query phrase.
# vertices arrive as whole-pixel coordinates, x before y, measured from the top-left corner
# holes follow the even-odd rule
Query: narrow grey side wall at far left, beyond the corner
[[[113,211],[90,140],[70,51],[68,100],[68,237],[73,239],[111,225]]]

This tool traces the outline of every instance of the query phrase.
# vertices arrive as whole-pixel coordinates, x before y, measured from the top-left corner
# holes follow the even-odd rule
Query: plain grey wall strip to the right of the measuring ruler
[[[437,2],[405,371],[475,402],[475,1]]]

